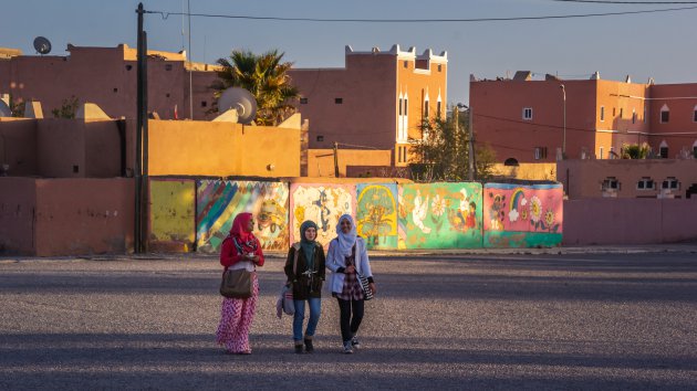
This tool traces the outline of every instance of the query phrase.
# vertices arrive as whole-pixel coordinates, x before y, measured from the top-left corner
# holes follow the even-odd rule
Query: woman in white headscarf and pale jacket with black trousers
[[[357,332],[363,320],[365,295],[358,274],[367,277],[368,288],[377,293],[365,241],[356,234],[353,218],[344,214],[336,224],[336,237],[330,242],[326,267],[332,271],[330,289],[336,297],[340,310],[341,337],[344,353],[360,347]]]

